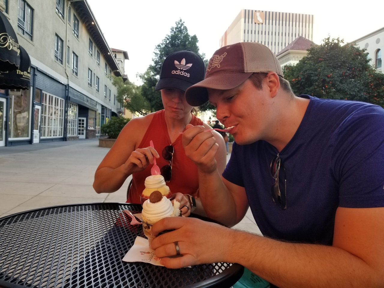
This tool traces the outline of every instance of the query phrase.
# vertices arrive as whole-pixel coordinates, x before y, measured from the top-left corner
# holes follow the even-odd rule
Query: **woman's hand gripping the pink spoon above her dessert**
[[[131,153],[128,160],[123,164],[124,172],[131,175],[146,169],[149,164],[153,164],[153,157],[159,158],[159,154],[152,147],[139,148]]]

